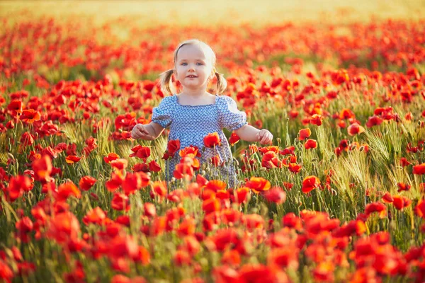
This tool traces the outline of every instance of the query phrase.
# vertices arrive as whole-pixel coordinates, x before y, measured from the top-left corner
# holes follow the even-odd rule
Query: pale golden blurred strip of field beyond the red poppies
[[[385,18],[418,20],[423,0],[298,1],[0,1],[0,16],[18,21],[29,14],[103,23],[128,18],[144,26],[167,24],[263,25],[285,21],[349,23]],[[78,19],[76,17],[79,17]]]

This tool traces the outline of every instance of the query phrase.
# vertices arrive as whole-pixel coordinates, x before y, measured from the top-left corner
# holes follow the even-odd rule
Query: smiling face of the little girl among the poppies
[[[175,75],[183,89],[202,90],[214,74],[210,58],[198,45],[183,45],[177,53]]]

